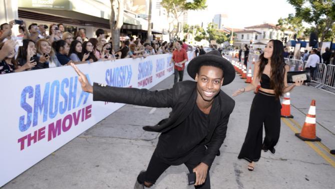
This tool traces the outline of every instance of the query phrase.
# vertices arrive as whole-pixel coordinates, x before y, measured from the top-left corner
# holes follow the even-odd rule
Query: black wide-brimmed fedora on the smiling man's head
[[[223,83],[222,85],[227,85],[231,83],[235,78],[235,69],[233,65],[221,56],[221,53],[217,50],[212,50],[209,53],[195,57],[187,65],[187,73],[193,79],[199,71],[199,66],[203,62],[216,62],[223,66]]]

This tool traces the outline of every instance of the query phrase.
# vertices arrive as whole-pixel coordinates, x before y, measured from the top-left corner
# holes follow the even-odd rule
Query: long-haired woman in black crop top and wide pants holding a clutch
[[[260,82],[261,88],[253,98],[248,130],[238,155],[239,159],[249,161],[248,170],[254,169],[254,162],[260,158],[261,150],[275,152],[274,146],[280,132],[280,100],[283,93],[289,92],[294,86],[300,86],[303,81],[297,81],[288,86],[286,75],[289,70],[285,65],[284,47],[279,40],[270,40],[255,63],[254,79],[251,84],[238,89],[232,96],[253,91]],[[263,124],[265,138],[262,141]]]

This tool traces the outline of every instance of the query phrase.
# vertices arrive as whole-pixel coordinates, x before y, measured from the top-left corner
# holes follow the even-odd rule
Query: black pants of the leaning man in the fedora
[[[188,168],[189,172],[193,172],[193,168],[195,168],[200,162],[201,159],[204,157],[206,152],[205,146],[199,146],[193,153],[193,155],[188,159],[184,164]],[[150,159],[148,168],[145,172],[142,172],[138,175],[137,180],[140,183],[144,183],[144,181],[155,183],[158,177],[169,167],[170,164],[163,162],[162,159],[160,159],[156,152],[152,154],[152,157]],[[186,184],[187,176],[185,175],[185,184]],[[172,188],[176,183],[171,183]],[[206,176],[205,183],[199,186],[194,186],[195,188],[202,188],[202,189],[209,189],[210,188],[210,180],[209,180],[209,167],[208,172]]]

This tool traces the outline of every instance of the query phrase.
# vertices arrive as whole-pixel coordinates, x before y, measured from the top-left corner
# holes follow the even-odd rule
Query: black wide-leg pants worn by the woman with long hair
[[[273,94],[258,91],[253,98],[249,126],[238,155],[239,159],[249,162],[258,161],[261,150],[273,150],[277,144],[280,133],[280,101],[275,99]],[[265,138],[263,138],[263,123],[265,128]]]

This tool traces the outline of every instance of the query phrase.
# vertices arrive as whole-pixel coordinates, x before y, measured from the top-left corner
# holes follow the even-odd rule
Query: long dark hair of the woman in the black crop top
[[[279,40],[270,40],[273,43],[273,52],[271,56],[271,71],[270,71],[270,87],[273,88],[276,98],[282,96],[284,91],[284,74],[285,74],[285,62],[284,62],[284,46]],[[261,74],[264,71],[265,65],[268,60],[264,58],[264,53],[259,56],[259,72],[258,78],[261,78]]]

